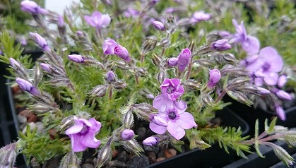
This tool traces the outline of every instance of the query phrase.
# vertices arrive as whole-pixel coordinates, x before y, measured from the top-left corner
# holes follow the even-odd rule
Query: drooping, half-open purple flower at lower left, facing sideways
[[[95,135],[100,131],[101,123],[94,118],[77,119],[74,117],[75,124],[66,130],[66,135],[71,138],[73,152],[81,152],[86,148],[97,148],[100,140]]]

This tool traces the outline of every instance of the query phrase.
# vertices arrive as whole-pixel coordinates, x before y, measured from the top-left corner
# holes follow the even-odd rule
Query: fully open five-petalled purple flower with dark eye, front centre
[[[153,100],[153,107],[158,109],[160,118],[167,121],[168,126],[160,126],[153,122],[150,122],[150,129],[158,134],[168,131],[177,140],[185,136],[185,130],[192,127],[196,127],[194,116],[185,112],[187,104],[184,101],[175,101],[167,99],[164,95],[158,95]]]

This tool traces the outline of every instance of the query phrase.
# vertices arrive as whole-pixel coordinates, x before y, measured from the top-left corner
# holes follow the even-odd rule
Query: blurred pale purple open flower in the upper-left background
[[[106,28],[110,24],[111,18],[108,14],[103,14],[95,11],[91,16],[84,16],[85,21],[93,26],[93,28]]]

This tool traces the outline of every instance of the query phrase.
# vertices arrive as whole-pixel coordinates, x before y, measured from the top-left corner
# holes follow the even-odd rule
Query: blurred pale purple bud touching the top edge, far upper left
[[[47,14],[48,13],[48,11],[45,10],[45,8],[41,8],[40,6],[38,6],[35,1],[25,0],[25,1],[20,2],[20,9],[22,11],[32,13],[32,14],[38,14],[38,13]]]

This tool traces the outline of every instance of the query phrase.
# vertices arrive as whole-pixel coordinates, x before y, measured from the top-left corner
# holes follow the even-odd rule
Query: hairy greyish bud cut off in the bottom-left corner
[[[0,148],[0,165],[4,168],[14,167],[16,162],[16,143]]]

